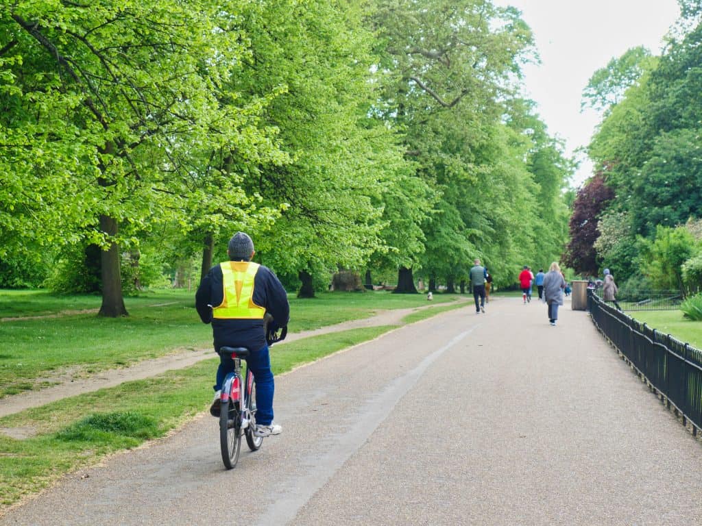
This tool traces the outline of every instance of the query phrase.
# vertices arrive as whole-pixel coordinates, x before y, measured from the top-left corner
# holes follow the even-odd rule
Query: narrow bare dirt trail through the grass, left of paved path
[[[461,301],[467,302],[470,298],[461,298]],[[311,336],[324,335],[329,332],[340,332],[343,330],[377,327],[378,325],[398,325],[404,316],[418,310],[430,309],[432,307],[445,306],[446,303],[430,304],[426,306],[413,307],[411,309],[395,309],[391,311],[378,311],[375,316],[364,318],[362,320],[345,321],[337,325],[329,325],[315,330],[306,330],[296,332],[286,337],[285,342],[278,345],[284,345],[286,342],[294,342],[297,339],[307,338]],[[97,375],[86,379],[69,379],[60,384],[48,387],[41,390],[41,396],[37,396],[36,391],[27,391],[13,396],[8,396],[0,400],[0,417],[5,417],[8,414],[29,409],[30,407],[39,407],[55,400],[76,396],[82,393],[91,393],[105,387],[114,387],[123,382],[131,382],[132,380],[140,380],[159,375],[161,372],[183,369],[194,363],[207,358],[213,358],[212,349],[199,349],[197,351],[180,351],[168,356],[161,356],[153,360],[143,360],[131,367],[120,369],[105,370]],[[41,378],[38,379],[41,381]],[[13,430],[0,429],[13,436]],[[27,430],[20,430],[22,434],[27,433]]]

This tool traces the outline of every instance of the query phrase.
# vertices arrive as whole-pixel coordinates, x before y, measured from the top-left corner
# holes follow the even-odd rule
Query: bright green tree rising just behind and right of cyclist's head
[[[380,73],[373,73],[364,6],[263,1],[242,15],[251,55],[234,89],[245,100],[277,90],[262,122],[277,129],[289,156],[244,180],[248,195],[281,210],[274,224],[253,233],[260,260],[298,276],[301,296],[314,295],[314,283],[329,283],[339,268],[362,268],[383,248],[383,195],[392,187],[397,194],[395,177],[407,177],[394,133],[371,117]]]

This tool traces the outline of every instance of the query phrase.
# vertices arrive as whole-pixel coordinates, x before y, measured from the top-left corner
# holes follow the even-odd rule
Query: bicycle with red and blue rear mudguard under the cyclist
[[[267,343],[279,342],[286,333],[287,327],[280,335],[266,329]],[[241,378],[241,359],[246,360],[250,353],[246,347],[220,347],[220,355],[234,360],[234,370],[225,377],[220,393],[220,449],[227,469],[234,468],[239,461],[242,435],[251,451],[258,451],[263,443],[263,437],[256,436],[256,382],[249,367],[246,379]]]

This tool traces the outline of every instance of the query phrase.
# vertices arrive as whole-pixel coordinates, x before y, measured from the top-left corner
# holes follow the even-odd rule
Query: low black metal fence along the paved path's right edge
[[[702,351],[617,311],[592,291],[588,310],[597,329],[697,436],[702,429]]]

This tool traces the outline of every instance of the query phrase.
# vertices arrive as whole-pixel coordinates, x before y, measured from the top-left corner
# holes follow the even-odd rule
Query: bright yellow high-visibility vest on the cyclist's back
[[[253,302],[253,280],[258,272],[258,263],[227,261],[220,263],[224,299],[222,304],[213,307],[212,317],[216,319],[263,319],[265,309]]]

